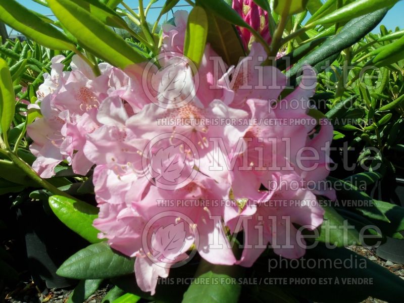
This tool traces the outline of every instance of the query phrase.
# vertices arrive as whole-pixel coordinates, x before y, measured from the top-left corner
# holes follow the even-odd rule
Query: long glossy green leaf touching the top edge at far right
[[[356,0],[334,12],[313,22],[314,25],[335,24],[351,20],[385,7],[391,7],[398,0]]]

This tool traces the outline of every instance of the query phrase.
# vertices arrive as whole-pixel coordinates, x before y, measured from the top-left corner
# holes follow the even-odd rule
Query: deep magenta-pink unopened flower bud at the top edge
[[[271,43],[271,35],[268,27],[268,12],[264,11],[252,0],[233,0],[232,7],[249,26],[260,33],[268,44]],[[243,42],[244,49],[248,49],[252,42],[251,38],[254,39],[254,36],[252,36],[246,28],[237,26],[237,30]]]

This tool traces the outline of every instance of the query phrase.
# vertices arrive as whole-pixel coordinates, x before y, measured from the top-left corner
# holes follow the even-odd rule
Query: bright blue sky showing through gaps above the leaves
[[[7,1],[7,0],[1,0],[1,1]],[[34,10],[36,12],[39,12],[44,15],[51,15],[52,11],[49,10],[48,8],[45,8],[31,0],[17,0],[19,3],[22,5],[26,6],[27,8]],[[136,8],[138,6],[138,1],[137,0],[127,0],[126,3],[131,7],[131,8]],[[148,3],[147,0],[144,1],[145,4]],[[159,0],[157,1],[153,7],[162,7],[165,3],[165,0]],[[186,2],[181,0],[179,2],[179,5],[186,5]],[[186,9],[189,10],[189,7],[185,8],[178,8],[178,9]],[[160,9],[150,9],[149,14],[147,16],[147,20],[150,22],[154,22],[159,15]],[[394,30],[396,26],[398,26],[400,29],[404,29],[404,1],[400,0],[386,15],[386,17],[383,19],[381,24],[384,24],[387,29]],[[168,19],[172,17],[171,12],[168,14]],[[165,19],[165,17],[163,17]],[[9,31],[11,29],[9,28]],[[373,32],[379,32],[378,28],[375,28]],[[15,32],[13,32],[15,33]]]

